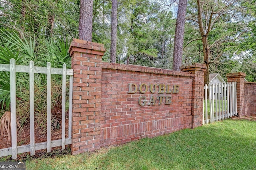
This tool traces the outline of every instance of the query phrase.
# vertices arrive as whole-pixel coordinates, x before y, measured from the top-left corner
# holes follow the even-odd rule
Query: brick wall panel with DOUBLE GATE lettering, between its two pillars
[[[190,74],[102,64],[101,146],[192,127]]]

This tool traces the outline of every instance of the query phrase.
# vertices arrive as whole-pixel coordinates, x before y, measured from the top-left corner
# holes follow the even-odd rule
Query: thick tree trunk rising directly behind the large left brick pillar
[[[80,1],[79,39],[92,41],[92,2]]]

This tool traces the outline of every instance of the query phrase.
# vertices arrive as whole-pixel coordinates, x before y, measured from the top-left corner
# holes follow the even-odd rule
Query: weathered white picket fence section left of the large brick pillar
[[[14,59],[10,59],[10,64],[0,64],[0,71],[10,72],[10,99],[11,99],[11,134],[12,147],[0,149],[0,156],[12,155],[13,159],[17,158],[18,153],[30,152],[35,154],[35,150],[47,149],[51,151],[52,147],[71,144],[71,118],[72,118],[72,91],[73,91],[73,70],[63,68],[51,68],[51,64],[47,63],[47,67],[34,66],[34,62],[30,61],[29,66],[16,65]],[[17,146],[17,125],[16,125],[16,72],[29,73],[30,82],[30,144]],[[34,131],[34,74],[47,74],[47,141],[35,143]],[[51,74],[62,75],[62,138],[51,141]],[[66,104],[66,76],[70,76],[69,83],[69,114],[68,114],[68,138],[65,138],[65,104]]]

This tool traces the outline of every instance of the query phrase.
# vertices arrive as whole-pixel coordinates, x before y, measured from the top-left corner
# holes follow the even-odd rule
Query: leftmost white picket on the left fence
[[[12,159],[17,158],[17,123],[16,123],[16,70],[14,59],[10,59],[10,98],[11,98],[11,133]]]

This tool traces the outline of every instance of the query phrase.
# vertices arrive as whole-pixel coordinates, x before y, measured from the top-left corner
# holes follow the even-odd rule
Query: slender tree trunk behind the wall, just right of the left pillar
[[[116,63],[117,0],[112,0],[110,63]]]

